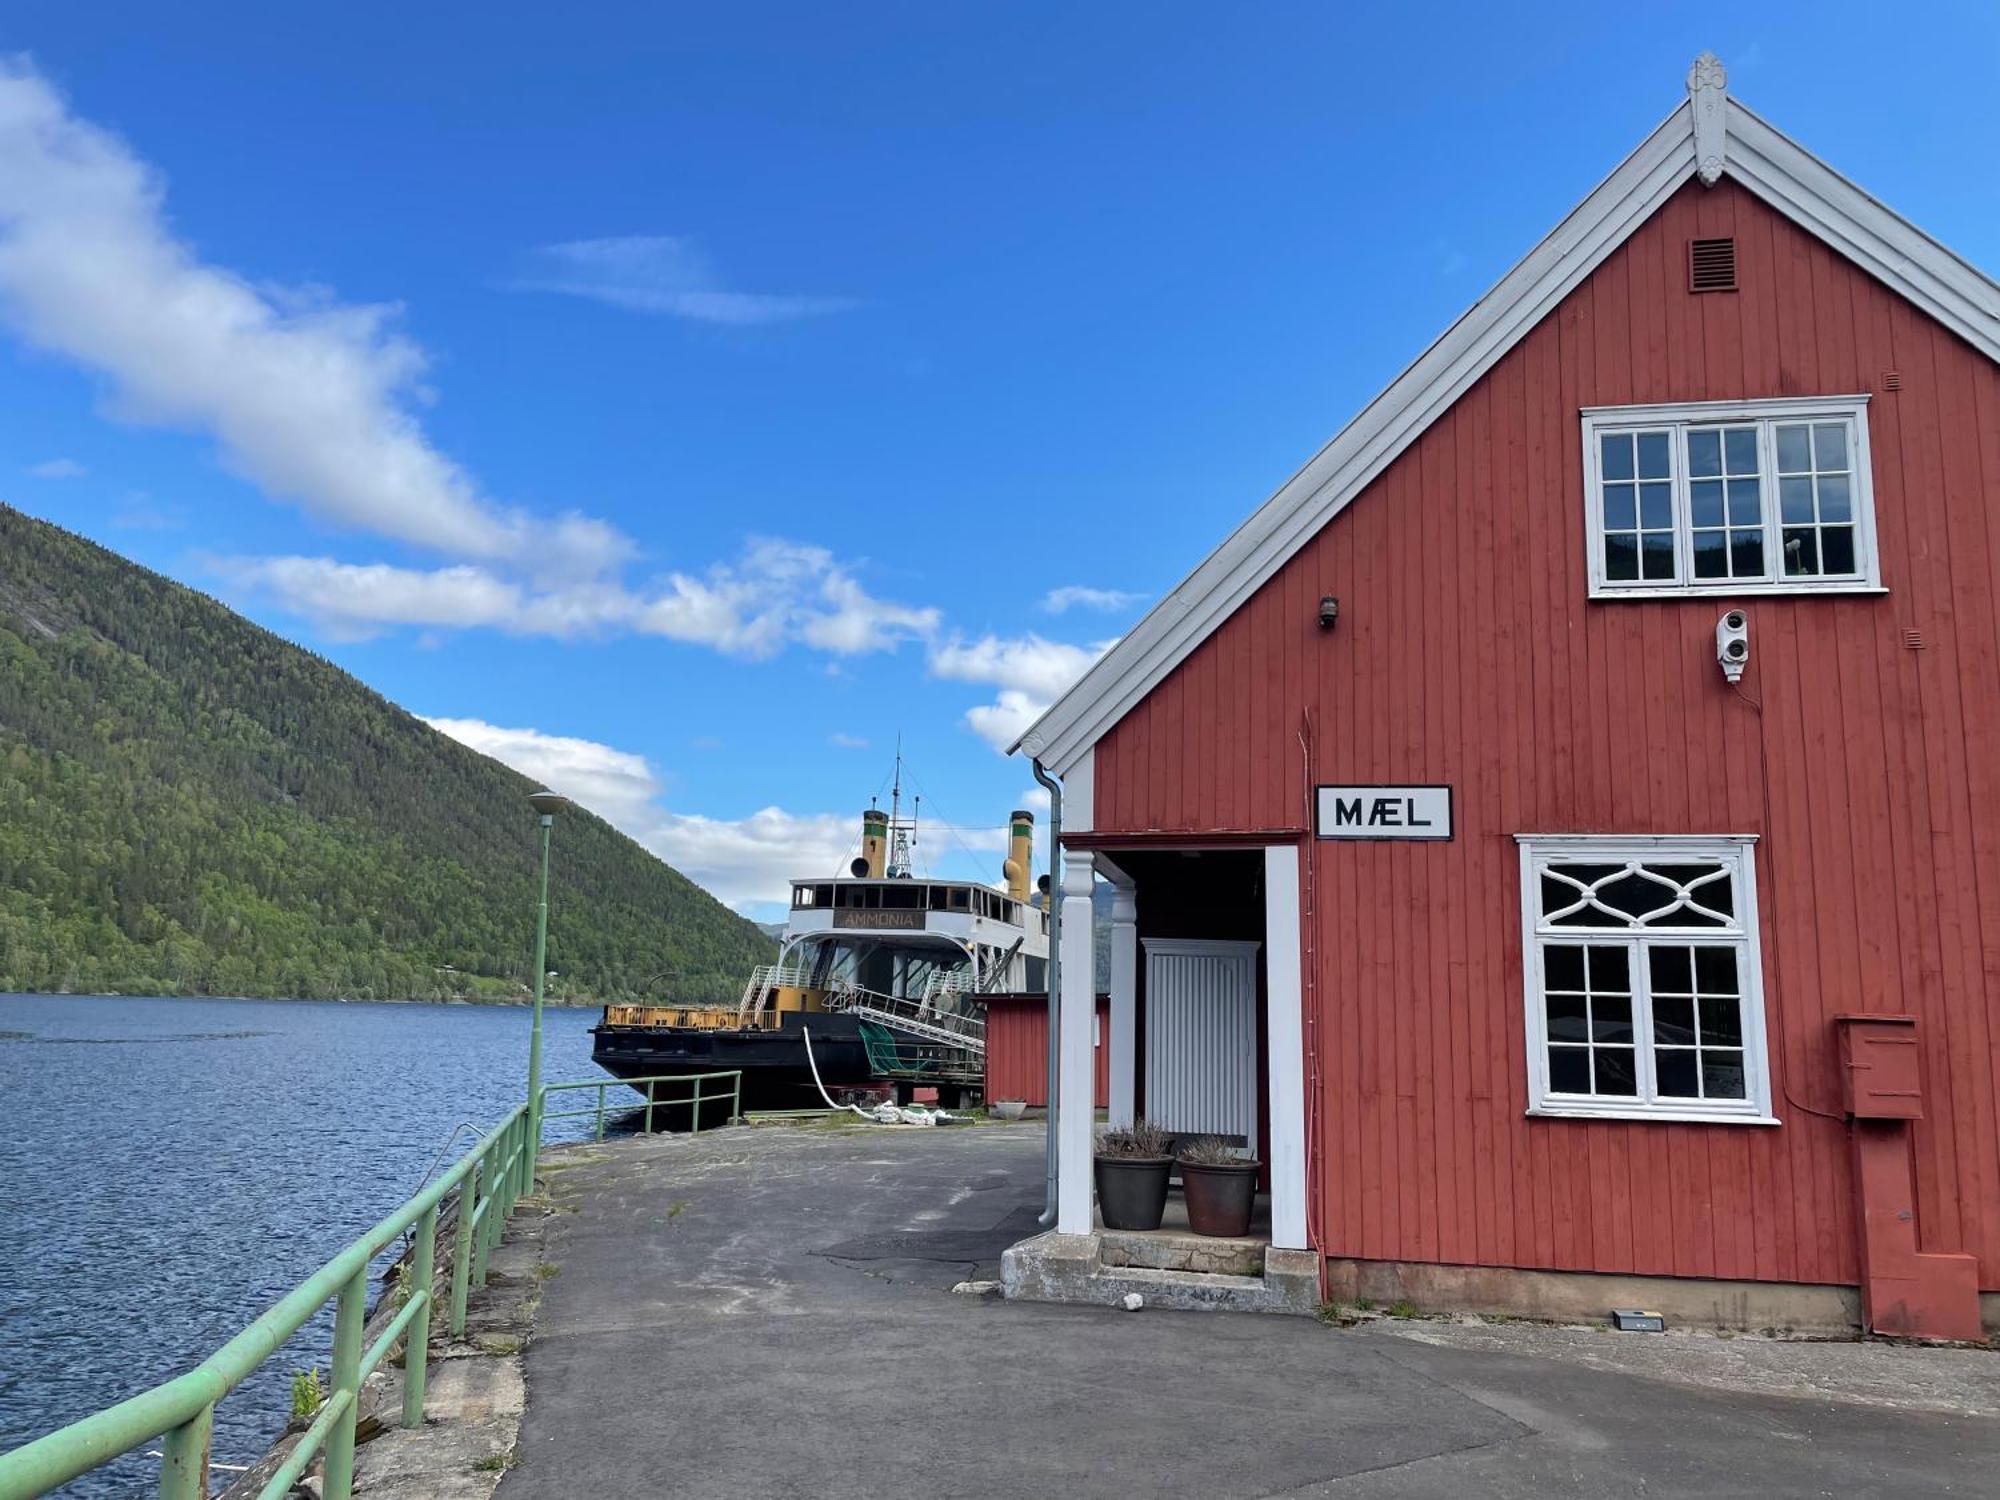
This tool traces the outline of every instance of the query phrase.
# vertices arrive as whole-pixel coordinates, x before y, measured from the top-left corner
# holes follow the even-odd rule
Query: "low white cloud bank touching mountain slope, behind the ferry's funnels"
[[[788,904],[792,880],[844,874],[860,848],[860,822],[846,812],[776,806],[744,818],[674,812],[662,800],[666,778],[644,756],[596,740],[478,718],[430,718],[426,724],[574,798],[730,906]],[[920,852],[1000,852],[1006,832],[998,818],[992,828],[926,822],[918,840]]]

